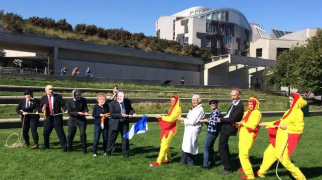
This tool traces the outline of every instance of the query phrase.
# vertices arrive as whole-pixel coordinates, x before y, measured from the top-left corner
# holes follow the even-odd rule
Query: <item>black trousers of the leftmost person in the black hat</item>
[[[23,134],[26,144],[30,144],[29,129],[31,129],[31,134],[32,134],[32,138],[34,140],[34,144],[38,144],[38,139],[39,139],[39,135],[37,132],[38,124],[39,124],[39,119],[30,118],[30,117],[25,118],[25,123],[24,123],[24,127],[22,129],[22,134]]]

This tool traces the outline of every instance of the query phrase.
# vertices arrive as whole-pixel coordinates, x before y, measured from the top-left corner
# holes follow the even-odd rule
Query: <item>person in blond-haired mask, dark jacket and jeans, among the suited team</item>
[[[97,156],[97,147],[100,142],[101,133],[103,133],[103,152],[106,155],[107,139],[109,133],[109,118],[104,120],[101,124],[101,118],[110,112],[109,104],[106,103],[106,96],[104,94],[98,94],[96,97],[98,104],[93,107],[92,116],[94,121],[94,142],[93,142],[93,156]]]

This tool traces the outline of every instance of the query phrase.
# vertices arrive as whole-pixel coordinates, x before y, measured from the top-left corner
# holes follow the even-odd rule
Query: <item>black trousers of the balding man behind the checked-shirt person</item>
[[[230,135],[225,135],[220,133],[219,135],[219,143],[218,143],[218,151],[221,159],[221,163],[225,170],[231,170],[231,162],[230,162],[230,151],[228,146],[228,140]]]

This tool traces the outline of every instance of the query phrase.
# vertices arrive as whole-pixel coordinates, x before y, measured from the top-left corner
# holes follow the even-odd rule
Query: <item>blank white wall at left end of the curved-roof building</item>
[[[156,29],[160,30],[160,39],[173,40],[173,21],[176,17],[162,16],[156,21]]]

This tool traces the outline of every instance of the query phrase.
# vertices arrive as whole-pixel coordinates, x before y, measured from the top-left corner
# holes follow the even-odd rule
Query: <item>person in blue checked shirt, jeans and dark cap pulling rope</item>
[[[208,161],[210,166],[215,165],[215,152],[213,150],[213,145],[215,140],[219,136],[219,131],[221,129],[221,124],[218,123],[218,118],[221,117],[220,110],[218,109],[218,100],[209,100],[209,106],[212,109],[209,119],[200,120],[207,125],[207,134],[205,140],[203,141],[203,164],[202,168],[208,168]]]

